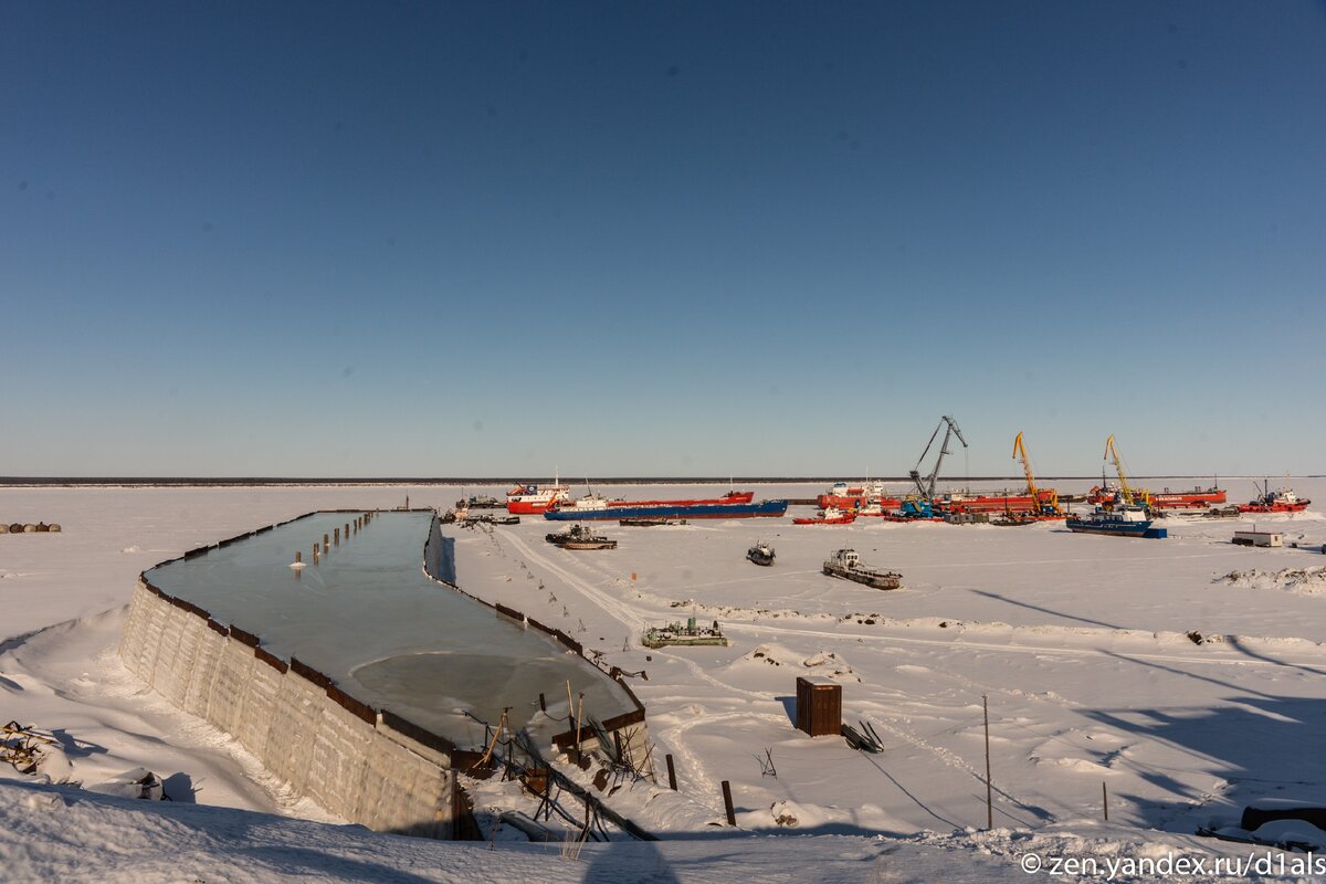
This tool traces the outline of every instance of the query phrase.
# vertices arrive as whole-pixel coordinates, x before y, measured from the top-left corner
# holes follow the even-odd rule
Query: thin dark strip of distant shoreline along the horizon
[[[1319,478],[1319,474],[1289,476],[1288,478]],[[1098,481],[1099,476],[1038,476],[1041,481]],[[1151,480],[1191,480],[1196,482],[1209,481],[1209,476],[1130,476],[1135,481]],[[1264,476],[1223,476],[1231,480],[1261,480]],[[520,482],[548,484],[553,480],[544,477],[503,477],[503,476],[465,476],[465,477],[375,477],[375,478],[337,478],[337,477],[150,477],[150,476],[0,476],[0,488],[268,488],[268,486],[487,486],[487,485],[516,485]],[[582,480],[564,480],[572,484],[581,484]],[[598,476],[589,477],[593,485],[801,485],[826,484],[843,481],[842,476],[743,476],[740,478],[727,476]],[[855,480],[853,480],[855,481]],[[906,476],[884,476],[871,481],[890,484],[907,484],[911,480]],[[945,476],[945,484],[952,482],[1018,482],[1022,476]]]

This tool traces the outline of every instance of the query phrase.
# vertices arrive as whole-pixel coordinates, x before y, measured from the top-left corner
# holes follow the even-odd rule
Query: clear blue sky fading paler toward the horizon
[[[0,474],[1326,472],[1322,3],[0,1]]]

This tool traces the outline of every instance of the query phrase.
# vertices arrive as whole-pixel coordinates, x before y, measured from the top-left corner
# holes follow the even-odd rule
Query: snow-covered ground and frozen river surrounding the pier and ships
[[[1250,481],[1223,485],[1232,502],[1253,496]],[[1293,485],[1326,500],[1326,481]],[[651,486],[648,496],[672,490],[701,489]],[[821,488],[754,490],[813,497]],[[396,506],[407,493],[411,505],[443,509],[459,497],[455,488],[403,486],[0,489],[0,520],[64,527],[0,535],[0,718],[52,733],[64,765],[52,763],[54,773],[86,786],[145,766],[176,799],[146,806],[37,787],[5,767],[0,777],[27,781],[0,781],[0,860],[11,880],[68,879],[78,868],[89,880],[461,880],[461,869],[465,880],[609,880],[611,869],[629,880],[631,868],[636,877],[655,869],[659,881],[1022,880],[1017,859],[1028,851],[1238,854],[1191,834],[1236,822],[1258,798],[1326,798],[1315,751],[1326,737],[1326,517],[1314,504],[1257,517],[1299,549],[1231,545],[1250,520],[1171,518],[1163,541],[1078,535],[1055,524],[609,524],[618,549],[582,553],[545,543],[537,518],[451,529],[467,591],[647,673],[633,687],[658,757],[671,754],[682,793],[713,812],[651,816],[646,806],[638,822],[664,842],[589,846],[577,863],[541,846],[424,844],[240,812],[328,819],[123,669],[114,648],[137,574],[298,513]],[[745,561],[757,539],[776,547],[773,567]],[[839,546],[900,571],[903,588],[822,575]],[[639,645],[647,626],[692,614],[717,619],[732,645]],[[845,718],[870,722],[884,751],[796,730],[797,675],[839,681]],[[987,815],[983,697],[993,832],[977,831]],[[776,775],[764,770],[766,753]],[[720,781],[732,785],[739,826],[756,836],[703,824],[721,815]],[[191,802],[199,806],[183,806]],[[141,859],[182,838],[198,851],[179,865]],[[235,851],[259,859],[245,869],[190,871],[190,861],[206,869]],[[91,873],[106,852],[115,855],[107,873]]]

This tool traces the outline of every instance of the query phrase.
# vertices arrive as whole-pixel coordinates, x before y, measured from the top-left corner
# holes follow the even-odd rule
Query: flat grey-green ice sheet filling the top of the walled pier
[[[451,541],[431,513],[375,513],[313,565],[314,542],[357,516],[305,516],[145,577],[217,622],[257,635],[272,653],[297,657],[353,697],[456,745],[483,740],[464,710],[496,724],[509,706],[509,724],[518,729],[544,693],[549,714],[565,717],[568,680],[573,693],[585,694],[586,716],[635,710],[615,681],[552,637],[431,579],[430,535],[434,570],[446,577],[451,561]],[[306,567],[289,567],[296,550]]]

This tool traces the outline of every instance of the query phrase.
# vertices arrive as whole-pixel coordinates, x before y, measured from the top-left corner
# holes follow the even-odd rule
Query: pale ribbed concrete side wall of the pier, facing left
[[[378,831],[452,836],[455,778],[450,751],[438,749],[450,744],[432,734],[432,746],[418,742],[251,634],[142,579],[119,656],[154,691],[232,734],[333,814]]]

